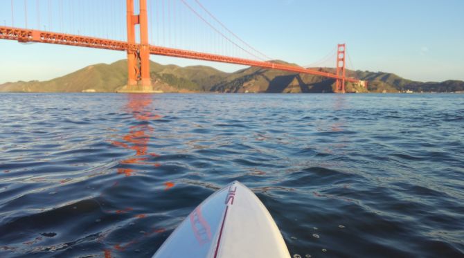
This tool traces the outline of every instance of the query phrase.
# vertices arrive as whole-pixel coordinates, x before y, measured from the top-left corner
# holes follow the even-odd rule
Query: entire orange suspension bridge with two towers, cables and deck
[[[190,3],[188,0],[24,0],[22,3],[10,0],[10,10],[11,26],[6,26],[4,19],[0,39],[126,51],[127,91],[152,91],[150,55],[319,75],[334,79],[335,91],[339,93],[345,92],[346,82],[366,86],[365,82],[346,76],[345,44],[337,45],[335,73],[272,62],[224,26],[199,0],[193,3],[192,0]],[[75,10],[87,11],[78,13]],[[122,22],[124,11],[125,22]],[[33,23],[30,17],[35,18]],[[109,24],[109,28],[102,28],[102,24]],[[114,39],[124,34],[126,39]],[[205,49],[205,45],[210,48]]]

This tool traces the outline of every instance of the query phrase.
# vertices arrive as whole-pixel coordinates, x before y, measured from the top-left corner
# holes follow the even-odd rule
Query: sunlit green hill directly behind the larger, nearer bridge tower
[[[226,77],[227,73],[208,66],[185,68],[155,62],[150,64],[150,76],[157,89],[166,92],[209,91],[211,86]],[[16,92],[114,92],[127,82],[127,61],[112,64],[94,64],[68,75],[44,82],[8,82],[0,91]]]

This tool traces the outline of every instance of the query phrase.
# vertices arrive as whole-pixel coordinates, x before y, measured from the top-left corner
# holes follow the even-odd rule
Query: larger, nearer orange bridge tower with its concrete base
[[[139,1],[139,15],[134,14],[134,0],[126,0],[127,43],[136,44],[135,27],[139,24],[139,50],[127,50],[127,85],[118,92],[156,93],[150,79],[150,45],[148,44],[147,0]]]

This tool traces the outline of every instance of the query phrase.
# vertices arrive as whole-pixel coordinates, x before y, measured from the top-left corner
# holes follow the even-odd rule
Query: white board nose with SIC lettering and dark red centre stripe
[[[154,254],[167,257],[290,257],[271,214],[234,181],[191,212]]]

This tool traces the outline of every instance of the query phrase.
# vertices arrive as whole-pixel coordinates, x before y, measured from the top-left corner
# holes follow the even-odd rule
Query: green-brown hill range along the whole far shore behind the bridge
[[[275,60],[279,64],[287,64]],[[291,64],[293,65],[293,64]],[[334,73],[334,68],[314,68]],[[331,93],[334,80],[310,74],[298,74],[258,67],[224,73],[209,66],[150,64],[150,76],[155,90],[163,92],[217,92],[217,93]],[[347,92],[396,93],[464,91],[464,82],[414,82],[393,73],[348,71],[348,77],[368,81],[368,89],[357,84],[346,84]],[[3,92],[114,92],[127,82],[127,62],[94,64],[68,75],[44,82],[8,82],[0,84]]]

